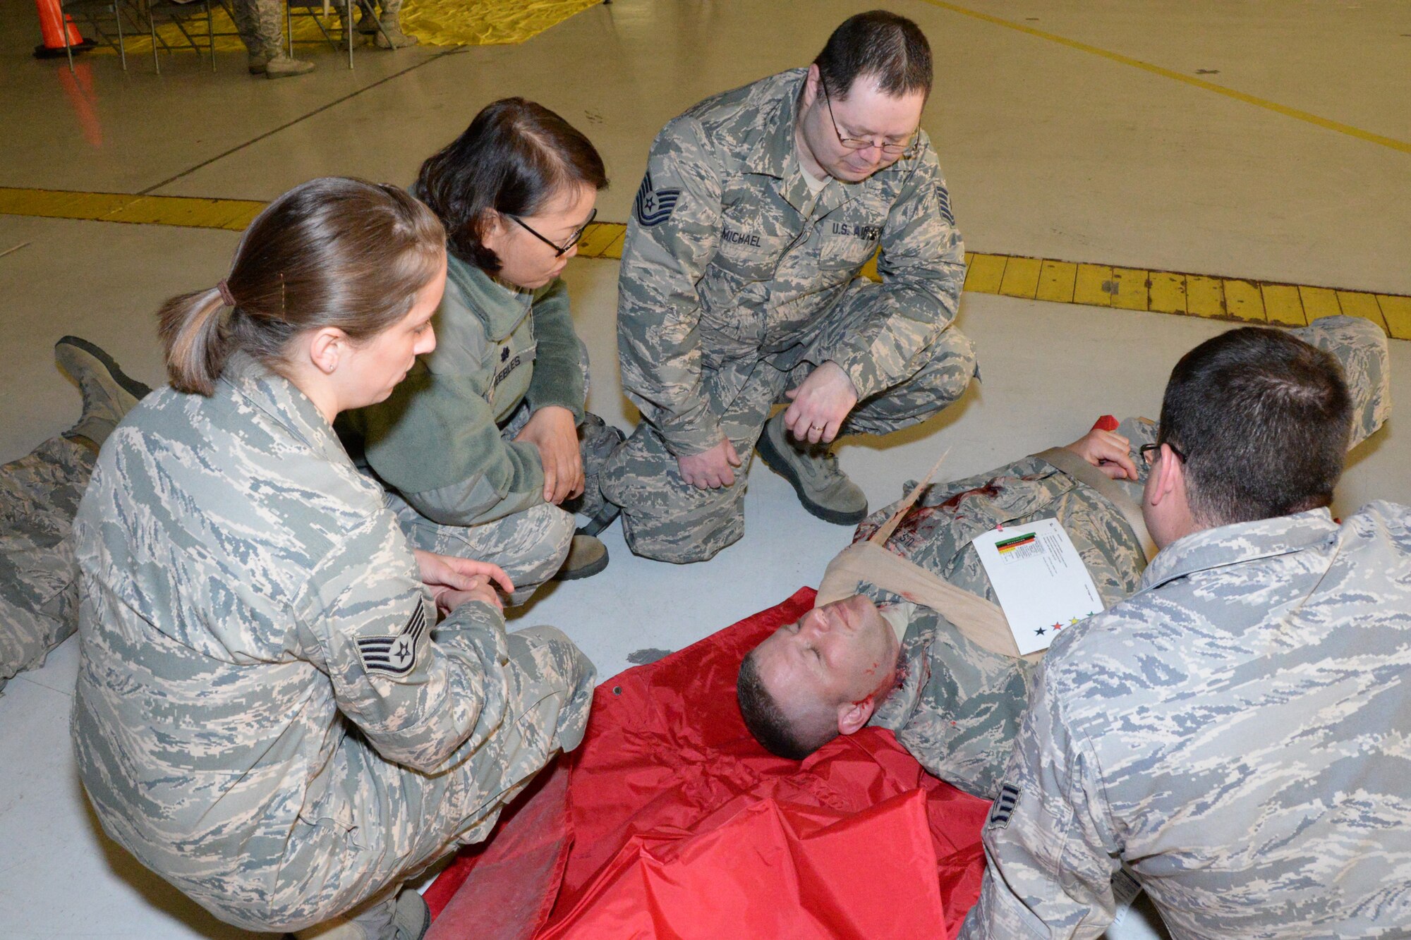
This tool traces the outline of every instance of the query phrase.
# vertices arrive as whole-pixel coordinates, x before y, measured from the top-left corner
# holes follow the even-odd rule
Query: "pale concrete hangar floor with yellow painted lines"
[[[1101,414],[1154,416],[1177,357],[1226,320],[1369,316],[1397,337],[1393,397],[1411,401],[1404,4],[875,3],[917,20],[935,52],[924,127],[972,253],[959,327],[983,381],[921,428],[841,447],[872,505],[945,447],[958,477],[1071,440]],[[353,71],[310,42],[299,55],[317,71],[285,82],[248,76],[229,40],[214,72],[188,51],[162,55],[159,75],[140,52],[127,72],[92,52],[71,73],[30,56],[38,31],[16,6],[0,23],[0,460],[78,415],[51,358],[59,336],[159,382],[157,306],[214,284],[261,202],[317,175],[409,182],[507,95],[557,110],[607,161],[605,224],[566,278],[595,367],[590,405],[631,426],[614,258],[652,135],[713,92],[807,62],[875,3],[569,0],[562,21],[507,14],[508,31],[477,34],[516,42],[365,48]],[[1335,510],[1411,501],[1401,423],[1393,414],[1353,453]],[[748,532],[715,560],[648,562],[614,526],[605,573],[546,591],[511,627],[555,624],[610,676],[634,651],[679,649],[817,584],[849,532],[807,515],[759,462],[749,480]],[[69,749],[76,665],[68,642],[0,697],[3,933],[241,936],[99,833]],[[1109,936],[1158,936],[1154,923],[1139,912]]]

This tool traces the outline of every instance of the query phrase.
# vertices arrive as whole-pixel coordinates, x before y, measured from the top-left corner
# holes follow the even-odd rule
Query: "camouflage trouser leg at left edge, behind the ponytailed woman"
[[[69,526],[96,454],[51,438],[0,467],[0,689],[78,625]]]

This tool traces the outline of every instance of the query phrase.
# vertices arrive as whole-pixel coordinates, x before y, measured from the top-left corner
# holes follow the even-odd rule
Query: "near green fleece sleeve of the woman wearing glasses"
[[[418,364],[387,401],[360,409],[360,421],[368,466],[435,522],[498,518],[543,494],[539,452],[499,435],[467,377]]]

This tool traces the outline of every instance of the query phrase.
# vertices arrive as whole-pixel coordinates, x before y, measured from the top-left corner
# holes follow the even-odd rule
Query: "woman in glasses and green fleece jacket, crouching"
[[[480,112],[413,189],[446,226],[436,350],[339,423],[404,521],[435,524],[418,548],[495,562],[515,601],[607,566],[593,534],[615,507],[595,471],[622,435],[584,411],[587,353],[559,278],[604,186],[597,150],[553,112],[519,97]],[[574,512],[590,518],[579,535]]]

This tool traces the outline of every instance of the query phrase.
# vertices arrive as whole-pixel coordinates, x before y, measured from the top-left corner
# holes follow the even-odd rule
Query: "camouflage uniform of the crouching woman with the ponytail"
[[[104,830],[216,916],[298,930],[488,833],[583,735],[593,665],[435,605],[382,490],[237,356],[150,395],[75,522],[73,738]]]

